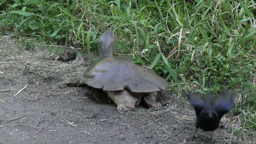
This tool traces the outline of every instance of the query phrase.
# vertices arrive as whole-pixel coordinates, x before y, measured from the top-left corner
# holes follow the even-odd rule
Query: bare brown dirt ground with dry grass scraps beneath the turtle
[[[255,143],[233,132],[238,116],[225,116],[212,140],[199,130],[193,142],[194,110],[185,100],[188,108],[182,109],[181,94],[168,90],[158,92],[164,110],[138,106],[119,113],[100,90],[60,89],[59,82],[86,70],[86,61],[60,62],[43,47],[18,45],[0,37],[0,144]]]

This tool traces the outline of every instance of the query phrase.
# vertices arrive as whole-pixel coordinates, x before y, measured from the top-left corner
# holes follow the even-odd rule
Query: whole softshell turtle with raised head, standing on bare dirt
[[[133,110],[141,101],[148,107],[161,108],[157,91],[168,83],[153,70],[134,63],[130,57],[113,57],[114,32],[107,31],[98,42],[100,61],[82,75],[60,83],[60,87],[88,85],[103,90],[117,105],[118,111]]]

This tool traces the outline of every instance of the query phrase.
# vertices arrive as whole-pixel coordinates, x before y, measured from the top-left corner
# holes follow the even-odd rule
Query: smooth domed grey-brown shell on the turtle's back
[[[128,88],[132,92],[154,92],[168,85],[153,70],[134,63],[130,57],[104,58],[90,66],[80,82],[102,90]]]

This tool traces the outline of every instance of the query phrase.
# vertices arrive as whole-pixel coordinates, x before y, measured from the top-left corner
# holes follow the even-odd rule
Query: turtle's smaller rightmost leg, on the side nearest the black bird
[[[157,92],[149,92],[144,96],[144,100],[146,105],[151,108],[162,108],[162,105],[158,102],[156,102]]]

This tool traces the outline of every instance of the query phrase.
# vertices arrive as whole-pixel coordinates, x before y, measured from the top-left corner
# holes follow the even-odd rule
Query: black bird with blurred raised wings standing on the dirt
[[[198,93],[190,93],[187,96],[196,111],[196,131],[198,128],[212,132],[216,130],[220,119],[231,110],[233,104],[233,96],[226,92],[220,92],[216,96],[206,94],[202,97]],[[196,138],[196,131],[193,140]]]

